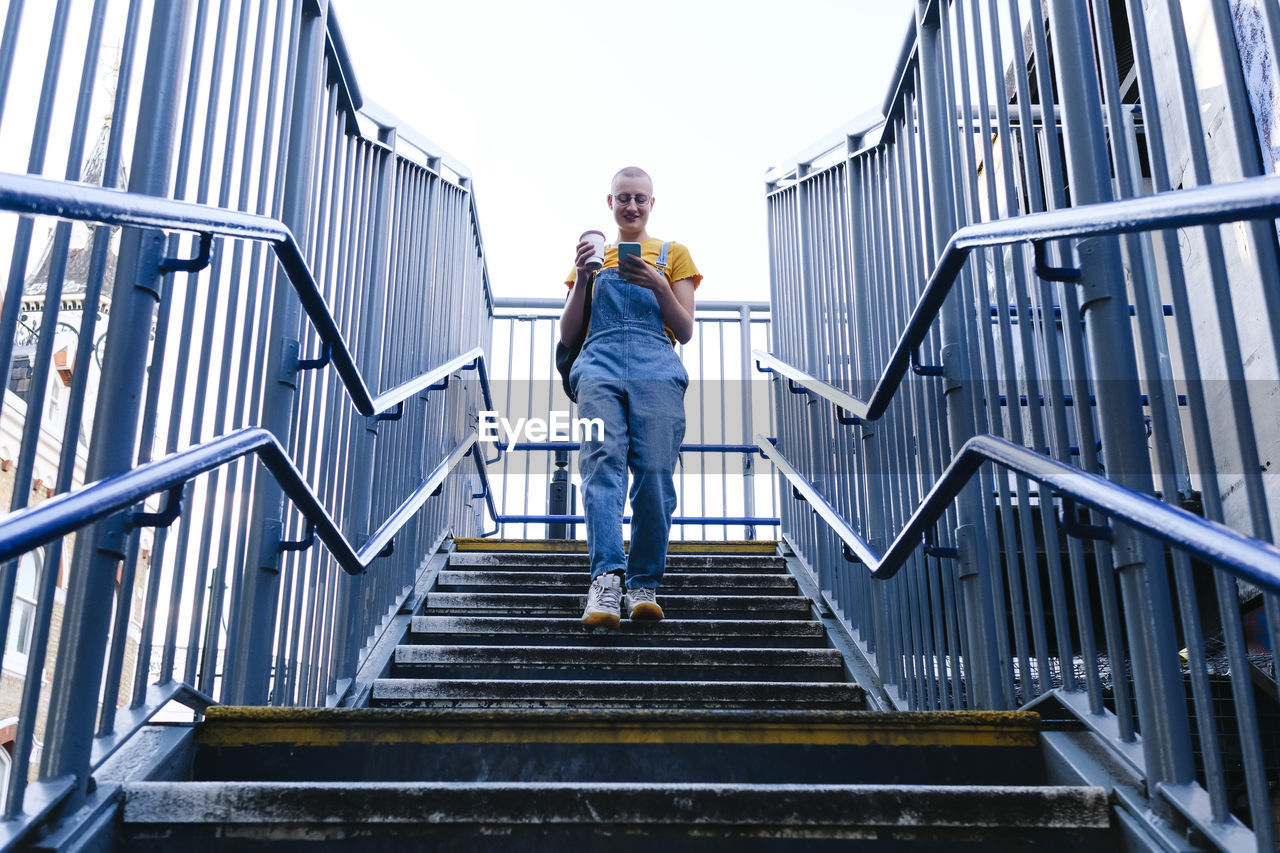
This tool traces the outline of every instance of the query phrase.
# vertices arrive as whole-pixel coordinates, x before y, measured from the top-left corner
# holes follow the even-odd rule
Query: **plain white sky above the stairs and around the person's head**
[[[767,300],[764,174],[877,109],[914,0],[333,0],[365,97],[466,164],[498,296],[563,296],[623,165],[707,300]]]

